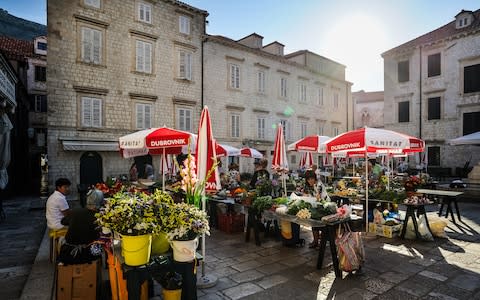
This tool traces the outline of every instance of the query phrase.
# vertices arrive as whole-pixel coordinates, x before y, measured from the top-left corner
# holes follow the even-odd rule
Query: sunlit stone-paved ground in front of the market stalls
[[[344,272],[343,279],[335,278],[328,250],[317,270],[318,250],[286,248],[272,238],[257,247],[242,233],[214,231],[207,238],[206,274],[219,279],[199,289],[199,299],[480,299],[480,204],[459,206],[462,222],[448,221],[448,239],[367,236],[362,272]],[[301,235],[310,240],[312,234],[302,229]]]

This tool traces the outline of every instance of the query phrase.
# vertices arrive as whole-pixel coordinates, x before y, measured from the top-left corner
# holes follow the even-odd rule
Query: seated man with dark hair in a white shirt
[[[45,216],[47,226],[50,229],[58,230],[63,228],[62,218],[70,212],[66,195],[70,193],[71,182],[67,178],[59,178],[55,182],[55,192],[48,197]]]

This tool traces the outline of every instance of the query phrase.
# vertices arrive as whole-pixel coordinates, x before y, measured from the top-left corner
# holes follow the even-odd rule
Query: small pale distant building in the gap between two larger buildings
[[[383,128],[383,91],[353,92],[353,127]]]

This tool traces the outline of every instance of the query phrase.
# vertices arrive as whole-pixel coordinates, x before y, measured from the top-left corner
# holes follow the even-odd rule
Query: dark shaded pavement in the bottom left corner
[[[39,199],[3,200],[0,223],[0,299],[19,299],[45,232],[45,210]]]

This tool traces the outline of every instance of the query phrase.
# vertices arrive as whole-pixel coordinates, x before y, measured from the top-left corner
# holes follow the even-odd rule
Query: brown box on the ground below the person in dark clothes
[[[96,299],[99,263],[57,265],[57,300]]]

